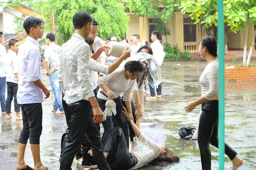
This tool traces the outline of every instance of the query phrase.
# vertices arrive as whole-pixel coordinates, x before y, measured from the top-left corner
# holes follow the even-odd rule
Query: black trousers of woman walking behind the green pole
[[[202,114],[198,130],[202,170],[211,170],[211,150],[209,144],[218,148],[218,100],[210,100],[202,104]],[[225,144],[225,154],[231,160],[237,155],[227,144]]]

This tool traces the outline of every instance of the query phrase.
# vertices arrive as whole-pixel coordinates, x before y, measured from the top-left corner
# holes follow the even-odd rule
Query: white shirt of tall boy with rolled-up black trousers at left
[[[27,41],[19,48],[18,104],[43,102],[43,90],[34,83],[39,79],[42,81],[39,46],[39,43],[35,39],[27,36]]]

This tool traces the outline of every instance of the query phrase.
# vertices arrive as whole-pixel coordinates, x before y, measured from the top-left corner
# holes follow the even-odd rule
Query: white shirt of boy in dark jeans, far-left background
[[[18,83],[18,80],[15,74],[18,73],[19,59],[18,59],[17,53],[10,49],[7,53],[5,68],[6,68],[6,82]]]

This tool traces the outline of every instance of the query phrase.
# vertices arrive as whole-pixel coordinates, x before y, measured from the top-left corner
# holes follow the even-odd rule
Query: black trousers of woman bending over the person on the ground
[[[100,105],[100,108],[102,111],[104,111],[106,109],[106,100],[102,100],[102,99],[97,99],[98,103]],[[127,144],[127,148],[129,148],[129,128],[128,128],[128,122],[127,122],[127,118],[125,116],[125,114],[121,111],[123,110],[123,104],[121,102],[120,97],[117,97],[116,99],[113,99],[114,102],[116,103],[116,115],[114,116],[112,114],[112,116],[107,116],[106,121],[102,121],[102,125],[104,128],[104,133],[102,134],[102,138],[104,137],[106,131],[110,128],[114,127],[114,121],[116,122],[117,126],[119,126],[120,128],[122,128],[123,133],[125,134],[125,140],[126,140],[126,144]]]

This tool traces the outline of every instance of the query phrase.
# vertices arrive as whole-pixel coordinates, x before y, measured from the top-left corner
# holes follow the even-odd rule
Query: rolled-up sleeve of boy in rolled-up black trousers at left
[[[29,82],[35,82],[40,79],[39,69],[41,68],[39,68],[40,59],[38,59],[38,56],[40,56],[38,49],[33,48],[28,52],[28,70],[26,76]]]

